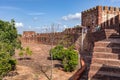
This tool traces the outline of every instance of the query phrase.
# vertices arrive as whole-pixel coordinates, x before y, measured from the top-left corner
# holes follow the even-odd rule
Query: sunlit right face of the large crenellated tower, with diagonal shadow
[[[117,19],[120,14],[120,8],[117,7],[102,7],[102,22],[101,26],[103,28],[112,28],[115,24],[118,24],[119,19]]]

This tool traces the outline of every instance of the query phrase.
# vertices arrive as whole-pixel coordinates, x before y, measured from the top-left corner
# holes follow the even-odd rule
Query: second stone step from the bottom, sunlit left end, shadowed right
[[[104,71],[120,74],[120,66],[108,66],[106,64],[92,64],[90,66],[91,71]]]

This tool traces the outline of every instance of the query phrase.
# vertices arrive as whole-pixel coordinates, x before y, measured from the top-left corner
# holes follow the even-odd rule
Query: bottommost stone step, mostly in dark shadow
[[[88,77],[89,80],[93,80],[94,78],[101,80],[120,80],[120,74],[104,71],[90,71]]]

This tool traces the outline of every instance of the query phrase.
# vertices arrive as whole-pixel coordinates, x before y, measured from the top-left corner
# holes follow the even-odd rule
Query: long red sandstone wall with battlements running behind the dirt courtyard
[[[81,35],[82,28],[67,28],[63,32],[55,33],[35,33],[34,31],[24,31],[22,42],[25,43],[42,43],[42,44],[58,44],[62,40],[67,40],[65,36],[70,36],[71,42],[75,43],[77,38]]]

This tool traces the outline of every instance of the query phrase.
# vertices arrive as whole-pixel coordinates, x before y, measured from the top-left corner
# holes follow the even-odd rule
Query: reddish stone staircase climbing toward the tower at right
[[[120,35],[114,29],[105,29],[105,36],[94,43],[88,79],[80,80],[120,80]]]

